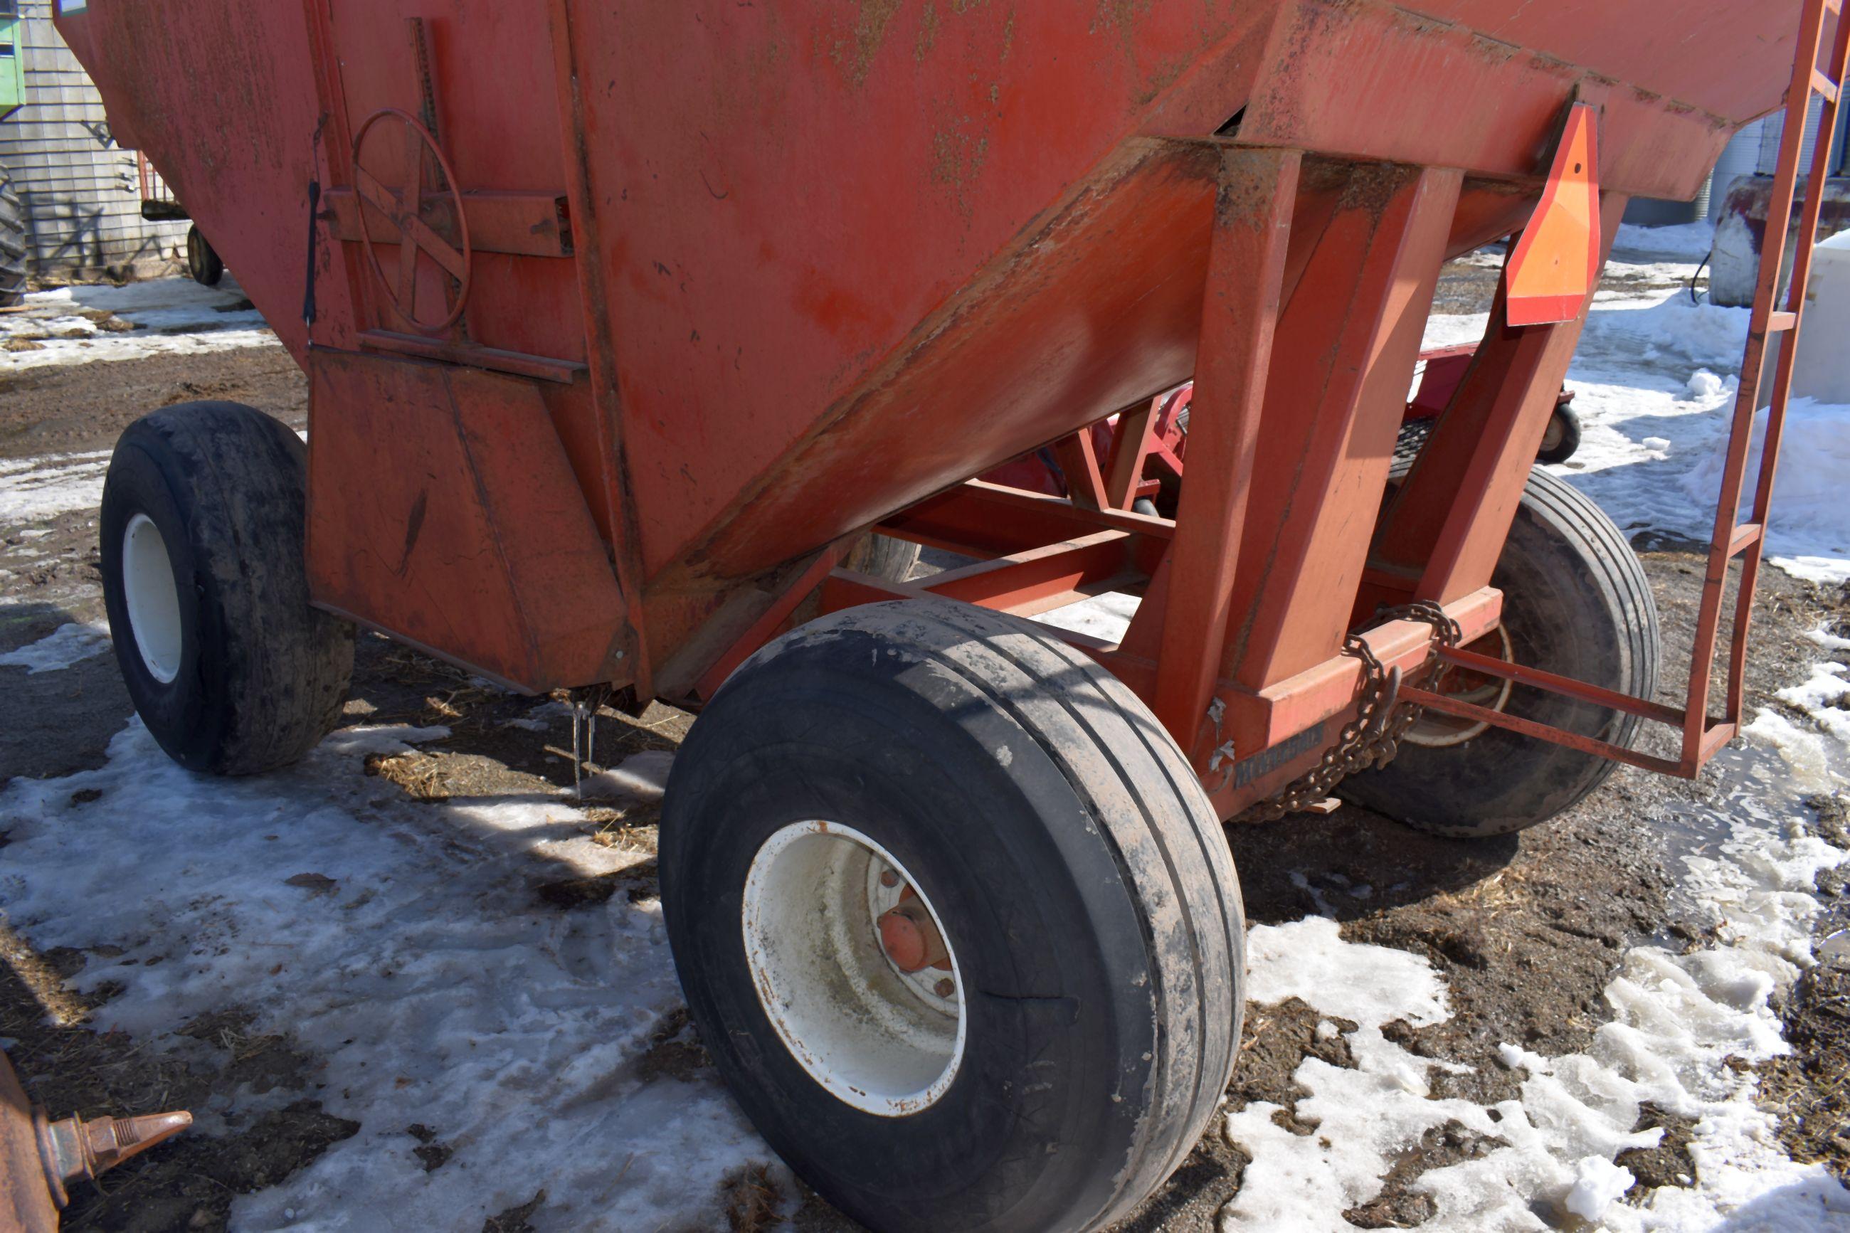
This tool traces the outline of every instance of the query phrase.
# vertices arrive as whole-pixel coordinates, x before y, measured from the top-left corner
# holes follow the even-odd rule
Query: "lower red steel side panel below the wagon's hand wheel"
[[[529,691],[625,673],[623,597],[533,381],[316,348],[316,603]]]

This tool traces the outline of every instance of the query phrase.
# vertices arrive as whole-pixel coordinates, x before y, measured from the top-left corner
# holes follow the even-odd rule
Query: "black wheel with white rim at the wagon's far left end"
[[[189,771],[261,775],[335,726],[353,627],[309,606],[307,451],[237,403],[131,423],[104,482],[104,603],[137,714]]]

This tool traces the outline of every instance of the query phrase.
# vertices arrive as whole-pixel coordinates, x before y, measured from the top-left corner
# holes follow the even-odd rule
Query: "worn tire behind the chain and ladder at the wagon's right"
[[[1395,479],[1406,475],[1395,466]],[[1504,592],[1504,632],[1517,664],[1648,699],[1658,691],[1658,604],[1645,568],[1610,518],[1572,484],[1532,471],[1491,582]],[[1511,690],[1504,712],[1613,745],[1639,719],[1587,702]],[[1419,728],[1415,728],[1415,734]],[[1417,830],[1489,837],[1526,830],[1574,806],[1617,763],[1504,728],[1449,747],[1402,743],[1380,771],[1339,795]]]

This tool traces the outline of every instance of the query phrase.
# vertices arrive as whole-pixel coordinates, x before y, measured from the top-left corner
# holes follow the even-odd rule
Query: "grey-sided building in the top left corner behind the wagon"
[[[135,153],[117,146],[102,96],[52,26],[54,0],[20,0],[26,105],[0,122],[0,163],[31,224],[31,266],[50,277],[170,270],[187,224],[146,222]]]

